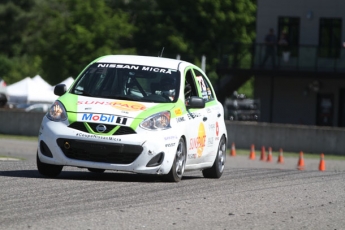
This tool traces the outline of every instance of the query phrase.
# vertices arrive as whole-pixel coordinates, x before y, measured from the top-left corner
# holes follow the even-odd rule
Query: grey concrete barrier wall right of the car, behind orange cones
[[[325,126],[272,124],[264,122],[226,121],[228,147],[257,150],[262,146],[278,151],[345,155],[345,129]]]

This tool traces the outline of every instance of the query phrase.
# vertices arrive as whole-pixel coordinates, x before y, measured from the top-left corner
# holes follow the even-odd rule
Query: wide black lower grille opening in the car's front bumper
[[[57,144],[68,158],[111,164],[130,164],[143,151],[140,145],[97,143],[63,138],[57,139]]]

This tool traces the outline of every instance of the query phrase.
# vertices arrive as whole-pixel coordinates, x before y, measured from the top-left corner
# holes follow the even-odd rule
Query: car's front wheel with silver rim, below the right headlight
[[[183,138],[180,138],[173,165],[171,166],[170,172],[166,175],[168,182],[179,182],[182,179],[184,168],[186,166],[187,150],[186,144]]]

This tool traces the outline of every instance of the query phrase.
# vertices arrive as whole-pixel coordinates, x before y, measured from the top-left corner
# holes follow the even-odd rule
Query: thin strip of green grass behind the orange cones
[[[227,150],[227,153],[230,153],[230,149]],[[236,149],[236,155],[248,155],[250,154],[250,149]],[[266,156],[268,154],[268,151],[266,150]],[[320,153],[321,154],[321,153]],[[303,158],[310,158],[310,159],[320,159],[320,154],[317,153],[305,153],[303,152]],[[261,150],[255,150],[255,155],[259,156],[261,155]],[[278,157],[279,152],[278,151],[272,151],[272,156]],[[284,157],[299,157],[299,152],[285,152],[283,151]],[[325,154],[325,159],[329,160],[345,160],[345,156],[339,156],[336,154]]]

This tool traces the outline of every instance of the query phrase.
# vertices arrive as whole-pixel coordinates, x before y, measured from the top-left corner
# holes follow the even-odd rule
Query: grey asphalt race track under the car
[[[0,139],[0,229],[345,229],[345,162],[227,157],[218,180],[65,167],[41,177],[36,143]],[[16,161],[13,157],[24,160]],[[4,159],[4,158],[3,158]]]

